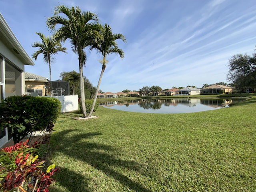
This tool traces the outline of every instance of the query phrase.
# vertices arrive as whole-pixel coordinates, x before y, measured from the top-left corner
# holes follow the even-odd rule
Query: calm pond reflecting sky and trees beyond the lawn
[[[215,110],[228,107],[230,103],[241,102],[239,99],[205,99],[205,98],[175,98],[175,99],[138,99],[127,101],[98,102],[106,108],[142,112],[142,113],[192,113]]]

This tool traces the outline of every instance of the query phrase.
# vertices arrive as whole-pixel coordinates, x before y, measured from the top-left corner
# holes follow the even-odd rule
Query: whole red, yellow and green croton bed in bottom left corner
[[[50,176],[59,168],[52,164],[43,172],[45,160],[35,154],[40,144],[35,142],[30,147],[27,143],[19,142],[0,151],[0,191],[48,192],[54,181]]]

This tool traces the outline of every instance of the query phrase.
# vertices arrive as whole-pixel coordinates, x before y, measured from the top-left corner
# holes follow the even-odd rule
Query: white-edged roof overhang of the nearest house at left
[[[12,53],[18,57],[25,65],[34,65],[32,58],[28,56],[20,42],[4,20],[0,13],[0,40],[7,46]]]

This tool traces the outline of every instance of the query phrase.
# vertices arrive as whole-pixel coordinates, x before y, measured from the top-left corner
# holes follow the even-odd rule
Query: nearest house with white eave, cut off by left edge
[[[34,65],[0,13],[0,102],[25,94],[24,66]],[[0,130],[0,147],[10,140],[10,130]]]

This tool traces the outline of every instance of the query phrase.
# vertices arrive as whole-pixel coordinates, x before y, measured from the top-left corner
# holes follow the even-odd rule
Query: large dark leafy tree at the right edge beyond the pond
[[[237,54],[228,61],[229,72],[227,80],[237,90],[256,87],[256,54]]]

